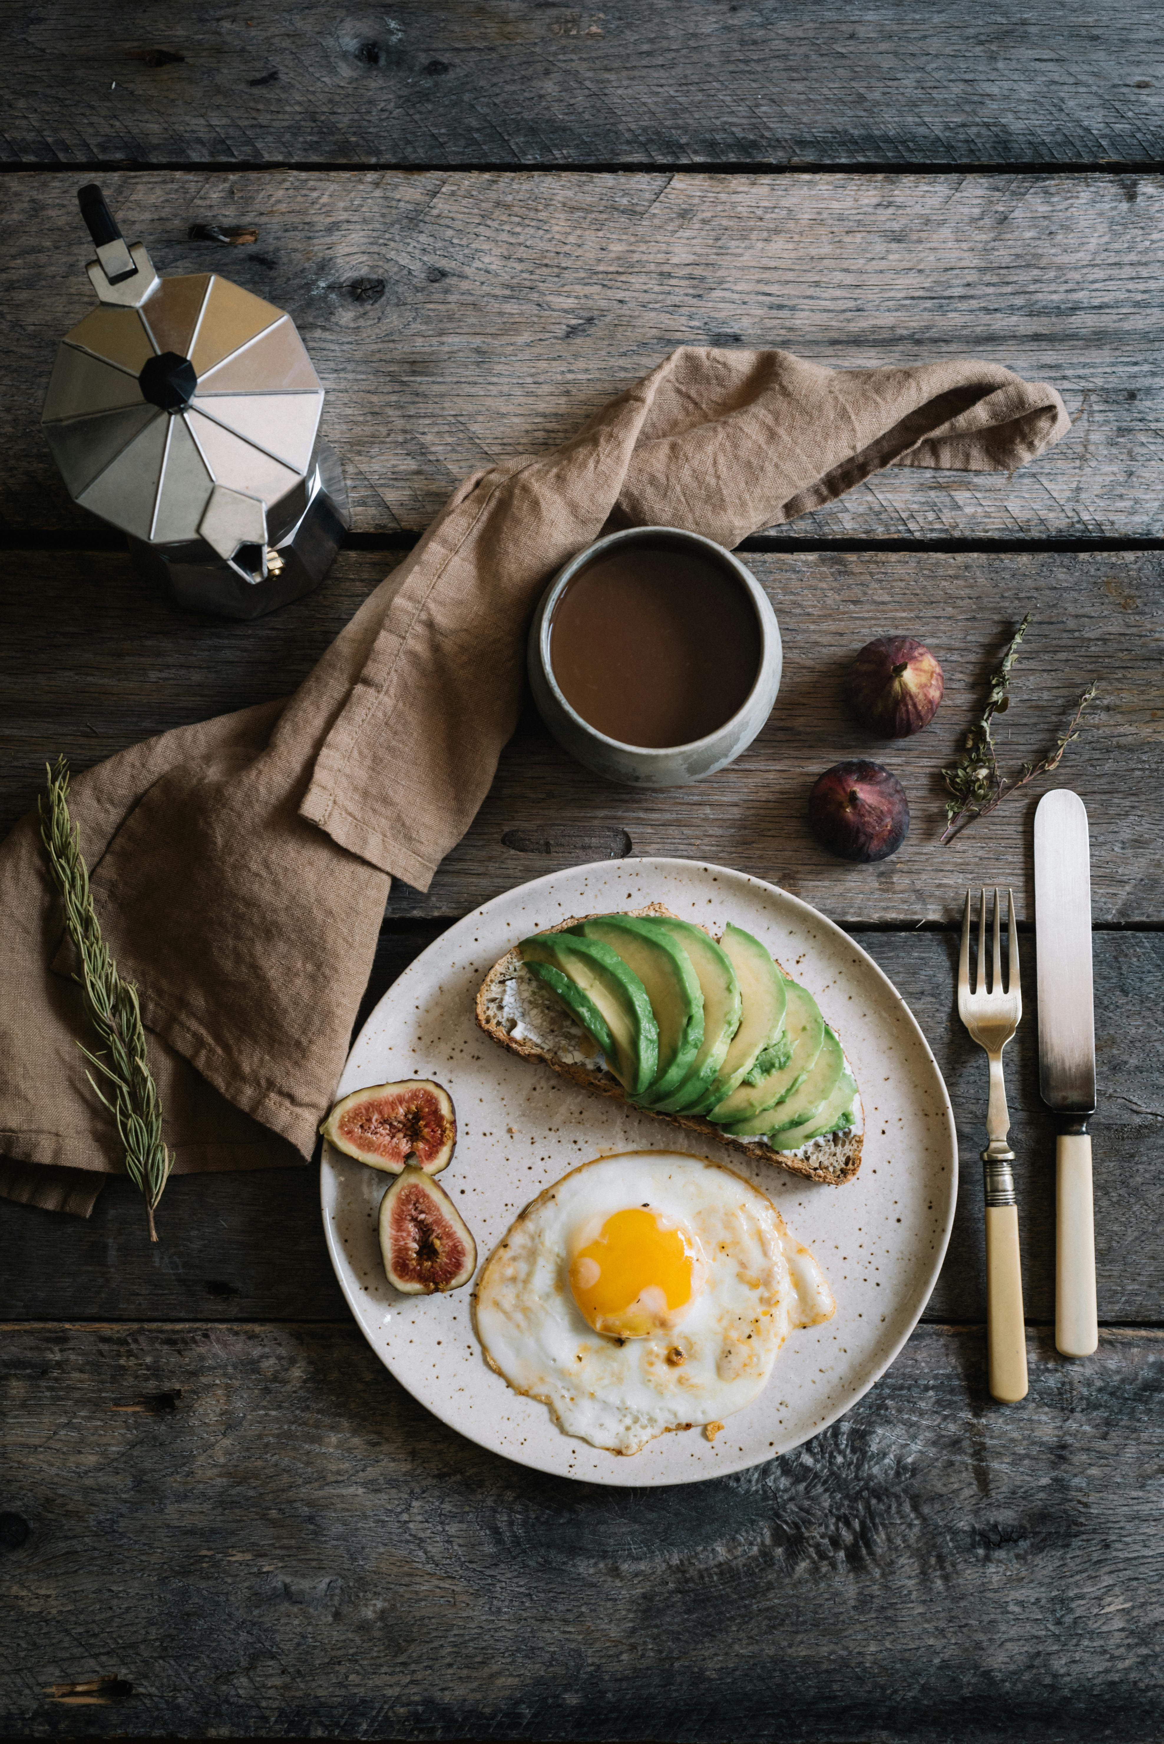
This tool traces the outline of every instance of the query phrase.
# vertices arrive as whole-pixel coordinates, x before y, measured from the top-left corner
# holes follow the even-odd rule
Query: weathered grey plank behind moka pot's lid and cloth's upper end
[[[423,527],[495,457],[549,448],[671,347],[842,368],[983,356],[1075,427],[1014,476],[887,471],[795,537],[1157,537],[1164,178],[113,174],[164,272],[293,310],[329,389],[357,528]],[[77,174],[5,180],[0,514],[82,527],[37,419],[91,307]],[[258,241],[190,241],[193,223]],[[89,523],[91,525],[91,523]]]

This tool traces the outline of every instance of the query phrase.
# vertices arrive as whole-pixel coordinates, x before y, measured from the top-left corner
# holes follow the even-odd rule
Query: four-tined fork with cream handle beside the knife
[[[986,1050],[990,1060],[990,1102],[986,1104],[986,1149],[983,1175],[986,1186],[986,1364],[990,1392],[1012,1402],[1026,1393],[1026,1327],[1023,1322],[1023,1275],[1019,1271],[1018,1205],[1014,1202],[1014,1151],[1007,1144],[1011,1114],[1002,1081],[1002,1050],[1023,1015],[1019,991],[1018,928],[1014,891],[1007,916],[1007,987],[1002,991],[1002,896],[995,888],[993,975],[986,987],[986,891],[978,916],[978,977],[971,991],[971,891],[962,916],[962,956],[958,959],[958,1017],[971,1039]]]

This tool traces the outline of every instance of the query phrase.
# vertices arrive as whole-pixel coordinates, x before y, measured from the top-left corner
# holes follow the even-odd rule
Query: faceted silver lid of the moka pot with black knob
[[[85,211],[101,303],[66,333],[42,413],[68,492],[150,544],[202,537],[225,558],[263,544],[267,511],[310,469],[322,412],[303,340],[216,272],[159,279],[103,201],[101,215],[106,244]]]

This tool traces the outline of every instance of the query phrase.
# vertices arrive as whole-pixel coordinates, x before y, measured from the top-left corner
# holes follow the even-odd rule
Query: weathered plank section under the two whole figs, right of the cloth
[[[636,855],[714,860],[782,884],[843,923],[960,917],[967,884],[1012,884],[1033,916],[1030,828],[1035,797],[1072,785],[1091,816],[1096,921],[1159,921],[1164,858],[1155,807],[1161,762],[1164,567],[1155,553],[770,555],[748,562],[770,593],[784,638],[784,678],[768,726],[721,774],[659,794],[606,787],[573,764],[537,717],[509,745],[465,839],[420,898],[397,884],[392,914],[467,910],[500,889],[582,855],[514,853],[514,825],[568,818],[619,827]],[[1018,617],[1037,614],[1012,706],[998,726],[1000,760],[1042,757],[1094,675],[1101,691],[1058,774],[1032,783],[991,818],[937,846],[944,788],[937,771],[962,748],[985,680]],[[843,675],[857,649],[887,631],[920,637],[946,675],[934,724],[911,739],[875,739],[847,713]],[[815,776],[845,757],[873,757],[904,783],[911,830],[875,867],[833,860],[809,832]],[[457,900],[453,900],[453,891]]]

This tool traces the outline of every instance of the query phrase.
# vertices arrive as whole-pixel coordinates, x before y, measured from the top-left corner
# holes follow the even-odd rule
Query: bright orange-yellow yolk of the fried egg
[[[579,1311],[608,1338],[650,1338],[678,1325],[700,1287],[695,1242],[650,1205],[613,1212],[570,1261]]]

